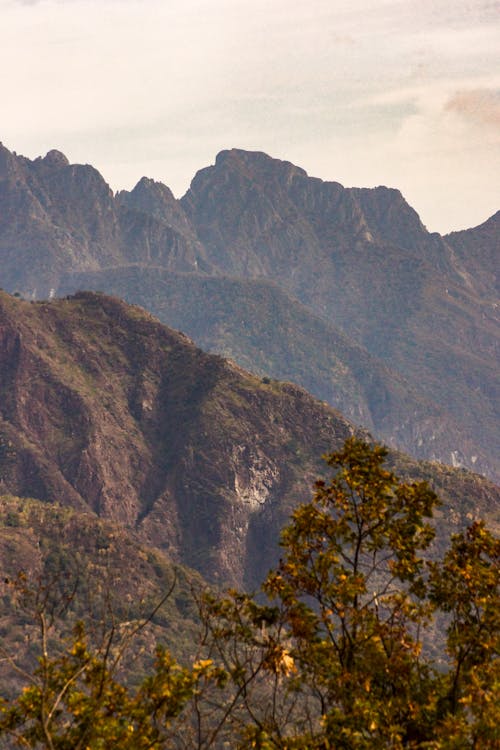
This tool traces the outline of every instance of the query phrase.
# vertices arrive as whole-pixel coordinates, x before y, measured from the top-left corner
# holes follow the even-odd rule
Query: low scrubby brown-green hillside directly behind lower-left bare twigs
[[[25,684],[7,655],[30,673],[37,667],[43,607],[53,657],[78,621],[91,642],[114,631],[115,653],[136,631],[122,665],[127,680],[150,666],[158,642],[177,658],[193,656],[192,591],[206,583],[129,529],[59,504],[0,496],[0,566],[2,697]]]

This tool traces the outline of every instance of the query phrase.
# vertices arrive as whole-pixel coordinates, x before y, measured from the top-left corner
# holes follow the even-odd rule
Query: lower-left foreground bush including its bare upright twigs
[[[145,618],[121,625],[111,610],[97,622],[91,613],[94,621],[89,628],[76,622],[67,647],[54,648],[58,625],[75,603],[77,583],[71,580],[61,593],[53,581],[31,586],[24,574],[11,582],[25,612],[30,611],[33,618],[40,656],[30,673],[0,647],[11,674],[26,681],[17,699],[0,698],[0,747],[11,748],[12,742],[50,750],[195,747],[193,727],[186,732],[184,726],[184,732],[179,732],[180,717],[194,695],[201,695],[208,686],[215,689],[225,679],[224,673],[209,661],[181,666],[161,646],[156,648],[149,674],[138,680],[133,669],[136,645],[171,595],[175,581]],[[7,744],[2,744],[2,737],[8,738]]]

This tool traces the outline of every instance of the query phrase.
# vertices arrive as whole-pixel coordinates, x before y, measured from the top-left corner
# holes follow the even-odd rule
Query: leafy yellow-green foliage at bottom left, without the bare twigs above
[[[131,690],[114,677],[117,656],[111,647],[109,637],[102,648],[90,650],[83,626],[77,626],[63,656],[42,654],[22,695],[3,707],[0,729],[25,747],[164,747],[199,670],[180,667],[158,648],[152,675]]]

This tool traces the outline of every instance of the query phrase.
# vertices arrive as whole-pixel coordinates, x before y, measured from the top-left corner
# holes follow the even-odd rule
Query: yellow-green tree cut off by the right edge
[[[500,539],[475,522],[430,570],[430,597],[449,623],[436,734],[443,747],[500,747]]]

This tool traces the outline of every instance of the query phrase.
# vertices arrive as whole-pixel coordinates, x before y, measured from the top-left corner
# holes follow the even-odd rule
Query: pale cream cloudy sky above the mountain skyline
[[[500,0],[0,0],[0,141],[177,197],[222,149],[500,209]]]

